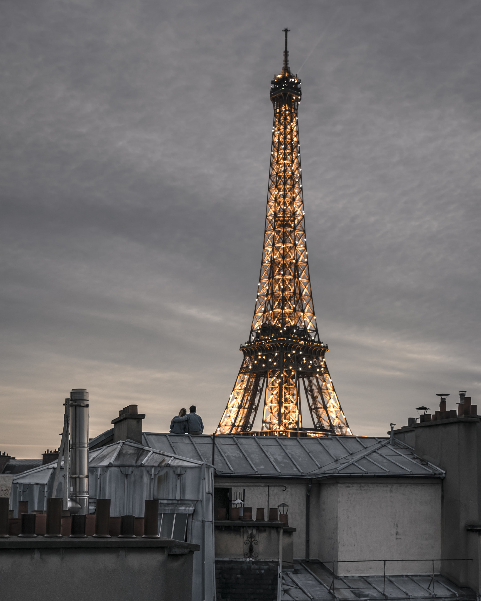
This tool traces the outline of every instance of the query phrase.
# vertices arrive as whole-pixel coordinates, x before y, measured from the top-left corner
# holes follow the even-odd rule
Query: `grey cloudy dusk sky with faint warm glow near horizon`
[[[0,451],[136,403],[206,432],[242,358],[282,29],[314,307],[354,433],[481,404],[479,0],[2,0]],[[305,425],[308,416],[305,415]]]

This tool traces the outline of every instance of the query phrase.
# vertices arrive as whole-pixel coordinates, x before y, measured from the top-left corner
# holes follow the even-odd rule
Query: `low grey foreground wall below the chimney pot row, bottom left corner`
[[[158,539],[0,539],[0,596],[191,601],[194,548]]]

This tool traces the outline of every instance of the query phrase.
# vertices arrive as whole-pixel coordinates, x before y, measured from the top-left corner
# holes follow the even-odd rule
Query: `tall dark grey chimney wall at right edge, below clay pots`
[[[441,571],[458,584],[481,592],[479,532],[481,525],[481,420],[453,418],[397,430],[396,438],[415,454],[446,471],[441,513],[441,557],[473,558],[443,561]]]

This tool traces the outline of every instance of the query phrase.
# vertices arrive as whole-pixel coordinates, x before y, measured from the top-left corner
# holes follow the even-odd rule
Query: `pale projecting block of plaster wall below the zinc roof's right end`
[[[321,561],[437,559],[441,481],[334,481],[320,486]],[[315,522],[313,523],[313,528]],[[314,537],[313,537],[314,538]],[[340,574],[380,574],[382,563],[340,563]],[[435,564],[435,569],[439,565]],[[388,563],[389,574],[429,572],[431,563]]]

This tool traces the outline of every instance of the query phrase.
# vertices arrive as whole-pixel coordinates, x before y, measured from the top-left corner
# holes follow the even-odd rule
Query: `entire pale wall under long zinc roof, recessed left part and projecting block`
[[[310,490],[311,559],[320,561],[363,559],[437,559],[441,557],[441,480],[342,479],[332,481],[240,480],[216,477],[215,486],[245,489],[245,504],[265,507],[289,504],[293,556],[306,553],[306,495]],[[286,490],[284,490],[284,487]],[[384,564],[340,564],[342,573],[379,574]],[[369,567],[368,567],[369,566]],[[438,566],[439,568],[439,566]],[[391,574],[429,572],[427,563],[388,564]]]

